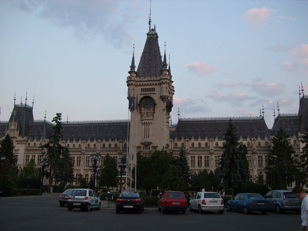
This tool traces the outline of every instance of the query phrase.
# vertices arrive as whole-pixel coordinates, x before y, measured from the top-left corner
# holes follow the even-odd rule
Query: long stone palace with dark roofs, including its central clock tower
[[[129,76],[127,99],[131,104],[130,120],[101,121],[62,121],[63,140],[61,144],[69,148],[73,157],[76,181],[80,174],[88,181],[91,177],[91,154],[102,156],[99,165],[103,165],[107,153],[117,162],[128,154],[128,176],[135,166],[133,153],[141,152],[149,156],[155,150],[165,148],[174,151],[177,156],[180,148],[186,150],[192,172],[207,169],[208,172],[219,166],[223,153],[223,135],[230,119],[225,118],[180,118],[177,124],[170,123],[173,107],[173,85],[170,63],[167,64],[166,50],[160,53],[156,28],[147,33],[144,50],[136,70],[134,53]],[[124,79],[123,79],[124,81]],[[301,96],[301,92],[300,92]],[[128,101],[129,102],[129,101]],[[42,160],[42,144],[51,137],[54,124],[43,120],[34,120],[32,106],[25,103],[16,104],[9,121],[0,122],[0,140],[9,134],[14,142],[14,155],[18,168],[23,168],[31,158],[37,165]],[[206,116],[206,115],[205,115]],[[294,158],[299,160],[302,150],[300,142],[307,131],[308,95],[299,101],[298,112],[280,114],[275,117],[273,127],[265,124],[263,115],[256,117],[231,117],[237,127],[240,143],[248,148],[250,180],[258,172],[264,172],[267,155],[272,147],[272,137],[282,127],[288,134],[296,151]]]

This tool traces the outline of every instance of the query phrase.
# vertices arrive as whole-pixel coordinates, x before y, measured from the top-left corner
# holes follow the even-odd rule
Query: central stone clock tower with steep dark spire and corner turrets
[[[126,81],[128,99],[132,103],[129,150],[130,153],[141,152],[143,156],[151,155],[156,149],[168,150],[169,121],[174,95],[166,48],[162,60],[156,28],[150,28],[137,71],[133,54]]]

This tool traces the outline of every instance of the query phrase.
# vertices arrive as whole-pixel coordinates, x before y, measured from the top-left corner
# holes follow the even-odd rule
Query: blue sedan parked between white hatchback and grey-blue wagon
[[[245,214],[250,211],[261,211],[266,214],[270,209],[270,202],[259,193],[238,193],[233,199],[227,201],[227,210],[242,210]]]

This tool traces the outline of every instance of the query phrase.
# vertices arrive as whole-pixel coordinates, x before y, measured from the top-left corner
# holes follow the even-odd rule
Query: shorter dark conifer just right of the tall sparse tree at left
[[[62,149],[61,161],[58,168],[55,169],[54,175],[56,176],[56,182],[61,182],[62,184],[72,184],[75,180],[73,158],[67,147],[63,147]]]

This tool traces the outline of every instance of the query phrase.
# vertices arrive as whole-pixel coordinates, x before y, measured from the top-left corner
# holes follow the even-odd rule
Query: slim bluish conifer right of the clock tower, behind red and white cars
[[[187,187],[190,183],[192,174],[188,164],[188,157],[183,148],[180,149],[179,156],[175,160],[175,165],[178,168],[180,179],[185,183]],[[186,190],[186,188],[184,190]]]

